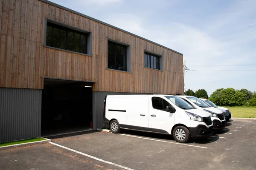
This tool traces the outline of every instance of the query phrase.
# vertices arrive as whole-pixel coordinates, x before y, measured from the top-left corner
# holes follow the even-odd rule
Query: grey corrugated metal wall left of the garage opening
[[[42,90],[0,88],[0,142],[41,135]]]

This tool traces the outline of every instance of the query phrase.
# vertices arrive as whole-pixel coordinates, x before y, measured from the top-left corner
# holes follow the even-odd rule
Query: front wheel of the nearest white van
[[[177,126],[173,130],[173,137],[176,142],[186,143],[190,139],[190,132],[184,126]]]

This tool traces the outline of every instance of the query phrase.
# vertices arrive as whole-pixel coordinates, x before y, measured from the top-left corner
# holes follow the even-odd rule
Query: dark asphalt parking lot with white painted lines
[[[52,139],[0,151],[0,169],[254,170],[256,120],[233,119],[205,140],[181,144],[172,136],[122,130]]]

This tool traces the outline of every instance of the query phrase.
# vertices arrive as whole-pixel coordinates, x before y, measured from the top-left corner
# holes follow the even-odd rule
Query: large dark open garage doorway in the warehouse
[[[41,136],[92,130],[92,83],[44,79]]]

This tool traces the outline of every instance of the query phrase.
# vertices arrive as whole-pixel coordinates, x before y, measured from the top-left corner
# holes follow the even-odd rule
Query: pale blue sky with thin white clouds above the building
[[[182,53],[185,90],[256,91],[256,0],[50,1]]]

